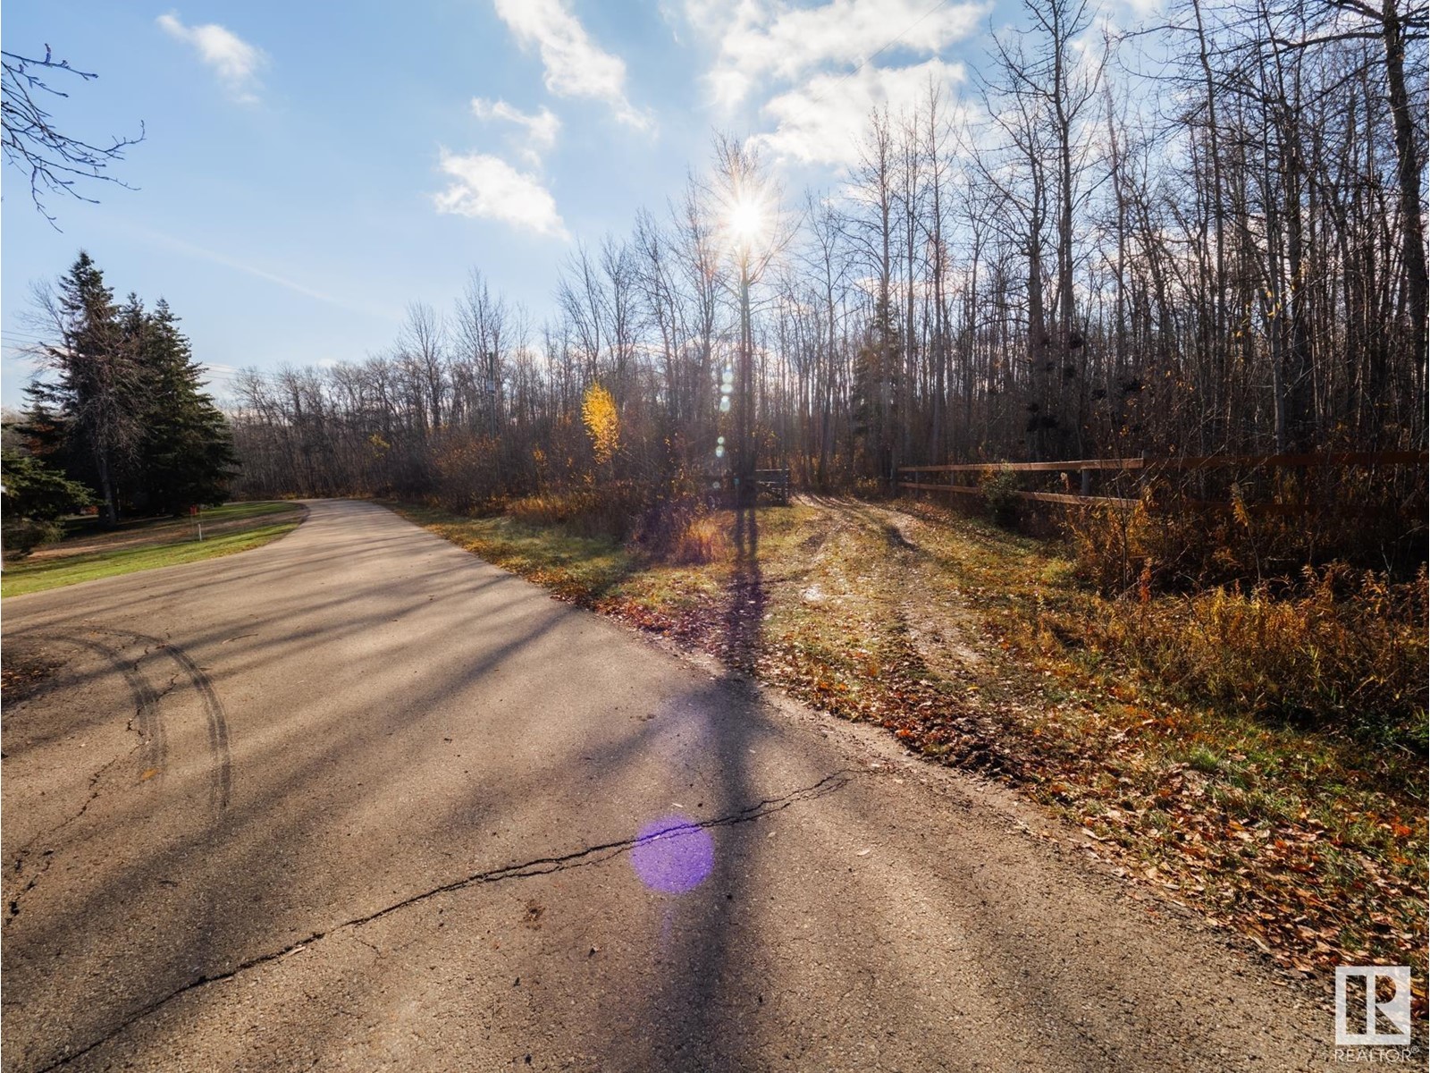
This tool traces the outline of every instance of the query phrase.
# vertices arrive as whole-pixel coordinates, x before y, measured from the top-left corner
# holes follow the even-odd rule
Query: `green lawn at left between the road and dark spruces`
[[[36,558],[6,564],[0,595],[19,597],[233,555],[292,532],[302,519],[303,508],[290,502],[225,504],[203,512],[203,541],[194,538],[194,522],[189,518],[144,519],[113,531],[86,532],[44,548]]]

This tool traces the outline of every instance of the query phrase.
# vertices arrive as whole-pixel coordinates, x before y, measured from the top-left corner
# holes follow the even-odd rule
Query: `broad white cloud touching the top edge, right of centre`
[[[685,14],[701,34],[721,41],[706,82],[716,103],[732,107],[762,82],[862,63],[891,41],[891,49],[937,56],[972,33],[990,9],[984,1],[930,9],[928,0],[831,0],[818,7],[742,0],[731,10],[686,0]]]

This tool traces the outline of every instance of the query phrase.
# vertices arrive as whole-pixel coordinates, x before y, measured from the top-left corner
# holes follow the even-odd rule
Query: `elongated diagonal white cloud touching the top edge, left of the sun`
[[[599,49],[565,0],[495,0],[496,14],[522,47],[538,46],[546,67],[546,89],[558,97],[606,102],[616,119],[646,129],[651,117],[625,96],[625,60]]]

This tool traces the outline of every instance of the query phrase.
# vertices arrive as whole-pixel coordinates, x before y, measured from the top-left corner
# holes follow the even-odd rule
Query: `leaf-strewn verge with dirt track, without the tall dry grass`
[[[1426,757],[1178,701],[1077,637],[1047,544],[928,506],[799,499],[704,565],[403,508],[558,595],[1020,787],[1118,874],[1286,969],[1413,964],[1426,1009]],[[742,541],[734,539],[741,536]]]

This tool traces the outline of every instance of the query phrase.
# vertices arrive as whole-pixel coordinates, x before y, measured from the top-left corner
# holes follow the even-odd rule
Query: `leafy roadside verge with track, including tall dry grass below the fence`
[[[754,558],[748,544],[735,554],[729,512],[664,515],[659,555],[651,534],[621,545],[509,518],[428,524],[931,758],[1010,780],[1130,880],[1294,970],[1424,966],[1426,757],[1404,744],[1424,727],[1423,628],[1407,625],[1423,595],[1323,571],[1290,599],[1270,587],[1114,599],[1057,545],[927,505],[807,499],[755,515]],[[695,561],[676,561],[682,541],[698,542]],[[1410,712],[1390,738],[1273,715],[1373,697]]]

